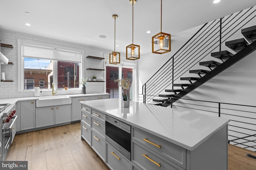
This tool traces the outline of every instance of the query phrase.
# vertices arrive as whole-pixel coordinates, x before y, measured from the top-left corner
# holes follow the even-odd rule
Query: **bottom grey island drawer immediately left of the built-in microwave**
[[[92,131],[92,149],[105,162],[105,140],[94,131]]]

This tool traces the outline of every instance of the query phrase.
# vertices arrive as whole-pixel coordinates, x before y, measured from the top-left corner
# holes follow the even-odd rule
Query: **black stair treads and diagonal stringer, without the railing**
[[[189,81],[190,84],[173,84],[174,87],[181,87],[179,90],[168,90],[165,92],[172,92],[174,94],[159,94],[159,97],[164,97],[161,99],[153,99],[154,102],[162,102],[162,104],[157,104],[160,106],[170,106],[173,102],[176,102],[178,99],[182,98],[192,90],[198,88],[200,85],[204,84],[220,72],[226,70],[228,67],[232,66],[236,62],[240,61],[250,53],[256,50],[256,26],[242,29],[242,35],[245,36],[248,42],[251,42],[250,45],[244,38],[227,41],[225,45],[231,50],[236,52],[235,55],[228,51],[220,51],[211,53],[212,57],[220,59],[221,63],[216,61],[204,61],[200,62],[200,66],[206,66],[209,70],[189,70],[189,73],[197,74],[198,77],[182,77],[180,80]],[[194,81],[194,82],[192,82]],[[184,88],[186,87],[186,88]]]

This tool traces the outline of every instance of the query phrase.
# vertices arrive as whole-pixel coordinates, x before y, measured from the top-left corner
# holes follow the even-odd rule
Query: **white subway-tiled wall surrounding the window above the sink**
[[[86,56],[104,57],[104,54],[109,54],[112,51],[90,47],[87,45],[71,43],[67,41],[61,41],[57,39],[51,39],[47,37],[40,37],[37,35],[30,35],[26,33],[20,33],[10,31],[6,29],[0,29],[1,43],[13,45],[13,49],[1,47],[1,52],[9,59],[9,62],[14,65],[1,65],[1,72],[5,72],[6,80],[14,80],[14,82],[2,82],[0,84],[0,98],[20,98],[20,97],[32,97],[34,92],[18,92],[18,54],[17,54],[17,39],[30,40],[48,45],[56,45],[58,47],[70,47],[84,50],[85,64],[84,68],[85,78],[92,78],[92,75],[104,77],[104,71],[91,71],[86,68],[100,68],[104,69],[104,62],[108,62],[109,59],[105,60],[94,60],[87,59]],[[109,55],[106,55],[107,57]],[[122,59],[125,59],[125,54],[121,54]],[[104,92],[104,82],[88,82],[86,83],[86,93],[102,93]],[[82,90],[58,90],[57,94],[81,94]],[[44,91],[44,96],[51,95],[51,91]]]

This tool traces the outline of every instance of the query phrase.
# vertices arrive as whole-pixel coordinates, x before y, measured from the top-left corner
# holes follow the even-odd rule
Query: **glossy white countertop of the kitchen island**
[[[119,99],[80,103],[190,151],[230,121],[226,118],[186,111],[183,108],[175,109],[139,102],[130,102],[130,107],[123,108]]]

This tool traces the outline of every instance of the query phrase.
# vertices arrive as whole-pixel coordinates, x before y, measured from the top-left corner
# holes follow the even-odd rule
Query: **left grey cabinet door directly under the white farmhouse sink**
[[[36,108],[36,127],[54,125],[54,107]]]

